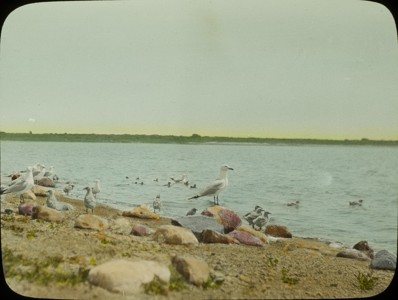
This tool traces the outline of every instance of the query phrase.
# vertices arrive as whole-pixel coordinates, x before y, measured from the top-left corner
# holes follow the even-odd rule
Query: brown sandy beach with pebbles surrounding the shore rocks
[[[130,225],[116,226],[121,218],[119,210],[98,204],[94,214],[105,218],[110,227],[104,231],[75,228],[75,219],[86,213],[82,200],[58,197],[58,200],[74,205],[73,211],[63,211],[66,220],[60,224],[38,222],[17,214],[19,197],[7,195],[1,203],[1,250],[9,249],[23,260],[44,261],[58,257],[62,270],[76,274],[94,265],[116,260],[153,260],[169,266],[175,255],[190,256],[205,261],[212,274],[223,279],[219,289],[204,290],[190,286],[183,292],[169,292],[164,299],[329,299],[367,298],[385,291],[395,272],[375,270],[369,261],[336,257],[340,248],[328,243],[302,239],[269,240],[265,247],[231,244],[203,244],[199,246],[169,245],[155,242],[151,236],[130,234],[131,226],[143,224],[153,230],[171,224],[170,218],[129,218]],[[31,200],[30,200],[31,201]],[[43,205],[45,197],[37,197],[36,205]],[[4,214],[11,209],[15,218]],[[113,224],[113,225],[112,225]],[[283,225],[283,224],[280,224]],[[30,237],[29,237],[30,234]],[[103,241],[107,242],[104,243]],[[95,264],[93,264],[93,259]],[[4,258],[3,258],[4,260]],[[277,264],[271,267],[270,260]],[[3,262],[4,264],[4,262]],[[282,270],[296,284],[284,282]],[[356,277],[358,272],[377,277],[373,289],[361,290]],[[152,299],[147,294],[123,295],[112,293],[85,281],[76,286],[60,286],[56,283],[37,285],[26,279],[5,278],[9,288],[17,294],[49,299]],[[390,289],[388,291],[391,292]],[[14,295],[15,296],[15,295]]]

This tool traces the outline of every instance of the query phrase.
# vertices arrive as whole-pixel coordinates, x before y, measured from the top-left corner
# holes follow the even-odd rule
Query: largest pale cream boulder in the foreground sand
[[[169,282],[170,271],[154,261],[114,260],[93,267],[88,281],[115,293],[143,293],[143,284],[150,283],[157,276]]]

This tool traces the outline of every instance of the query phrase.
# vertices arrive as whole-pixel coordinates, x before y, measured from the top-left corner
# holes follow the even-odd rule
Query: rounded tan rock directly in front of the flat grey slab
[[[199,245],[198,239],[191,230],[174,225],[163,225],[153,234],[154,240],[165,244]]]

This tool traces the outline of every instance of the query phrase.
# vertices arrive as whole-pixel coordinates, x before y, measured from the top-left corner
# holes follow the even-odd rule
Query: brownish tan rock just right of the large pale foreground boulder
[[[193,257],[172,258],[172,264],[185,280],[200,286],[210,276],[207,263]]]

